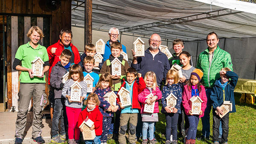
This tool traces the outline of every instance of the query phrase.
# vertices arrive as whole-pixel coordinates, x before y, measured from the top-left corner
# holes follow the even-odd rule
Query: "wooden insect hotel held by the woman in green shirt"
[[[43,75],[43,69],[44,69],[44,61],[38,57],[35,58],[32,62],[32,71],[33,71],[33,76],[42,76]]]

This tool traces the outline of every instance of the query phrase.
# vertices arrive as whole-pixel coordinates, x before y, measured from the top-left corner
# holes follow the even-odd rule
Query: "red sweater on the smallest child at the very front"
[[[88,112],[87,107],[80,112],[78,117],[78,127],[83,123],[86,118],[94,122],[95,134],[102,135],[102,113],[99,111],[99,106],[96,106],[92,111]]]

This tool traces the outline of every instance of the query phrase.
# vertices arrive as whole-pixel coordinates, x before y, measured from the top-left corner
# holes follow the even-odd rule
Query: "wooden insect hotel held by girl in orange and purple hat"
[[[192,98],[189,99],[190,102],[190,107],[192,111],[192,115],[199,115],[201,112],[201,106],[202,106],[202,100],[199,98],[199,96],[192,96]]]

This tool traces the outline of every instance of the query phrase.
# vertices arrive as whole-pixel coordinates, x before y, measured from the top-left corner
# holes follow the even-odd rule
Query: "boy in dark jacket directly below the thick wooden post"
[[[94,46],[94,44],[87,44],[84,47],[84,53],[83,55],[81,55],[81,61],[79,62],[79,65],[82,67],[82,70],[84,70],[84,58],[87,56],[91,56],[93,57],[94,55],[96,55],[96,48]],[[93,72],[95,72],[96,74],[99,74],[99,71],[102,67],[102,64],[104,63],[103,59],[101,63],[95,63],[94,67],[98,67],[99,69],[93,69]]]

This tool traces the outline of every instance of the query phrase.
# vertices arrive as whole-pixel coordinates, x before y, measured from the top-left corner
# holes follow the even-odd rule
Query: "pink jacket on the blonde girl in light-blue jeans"
[[[148,88],[145,88],[139,95],[138,95],[138,99],[139,102],[141,103],[141,109],[140,109],[140,113],[145,113],[144,112],[144,104],[146,99],[146,96],[148,96],[150,94],[150,90]],[[162,92],[160,91],[160,89],[157,87],[156,90],[152,89],[152,94],[153,95],[157,95],[157,100],[160,100],[162,98]],[[155,106],[154,106],[154,113],[158,113],[159,112],[159,108],[158,108],[158,101],[155,101]]]

